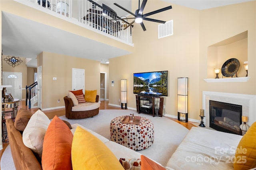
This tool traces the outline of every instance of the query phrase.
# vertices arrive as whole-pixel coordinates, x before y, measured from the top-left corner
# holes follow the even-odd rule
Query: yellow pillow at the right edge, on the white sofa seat
[[[236,148],[235,170],[248,170],[255,165],[256,160],[256,122],[252,124],[242,137]]]

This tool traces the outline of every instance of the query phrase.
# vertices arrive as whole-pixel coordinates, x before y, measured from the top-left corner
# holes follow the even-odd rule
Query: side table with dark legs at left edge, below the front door
[[[18,106],[20,103],[20,99],[14,99],[10,102],[2,101],[2,142],[7,138],[7,130],[5,124],[5,117],[11,116],[12,119],[15,119],[18,113]],[[6,109],[12,109],[11,111],[6,111]]]

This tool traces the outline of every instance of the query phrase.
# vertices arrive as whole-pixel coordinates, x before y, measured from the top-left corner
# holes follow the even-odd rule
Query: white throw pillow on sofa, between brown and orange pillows
[[[22,140],[26,147],[30,148],[41,158],[44,135],[50,124],[50,119],[41,110],[34,113],[23,131]]]

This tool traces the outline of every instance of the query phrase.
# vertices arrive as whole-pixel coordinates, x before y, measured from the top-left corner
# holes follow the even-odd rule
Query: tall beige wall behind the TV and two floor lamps
[[[147,9],[159,9],[170,4],[150,1]],[[135,7],[136,8],[136,4]],[[199,11],[172,5],[172,10],[152,16],[161,20],[173,20],[174,35],[158,39],[158,23],[144,21],[146,31],[134,24],[134,50],[131,55],[110,60],[110,104],[118,105],[120,98],[120,79],[127,79],[128,107],[136,108],[133,94],[133,73],[168,70],[168,97],[165,97],[166,113],[177,113],[177,78],[189,78],[189,110],[198,109],[194,96],[198,97],[199,86]],[[191,115],[190,115],[191,117]],[[197,118],[197,117],[196,117]]]

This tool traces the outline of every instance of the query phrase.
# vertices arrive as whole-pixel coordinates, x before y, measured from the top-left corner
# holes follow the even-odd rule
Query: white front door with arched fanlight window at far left
[[[12,94],[14,99],[22,99],[22,73],[3,72],[3,85],[12,85],[6,88],[7,93]]]

